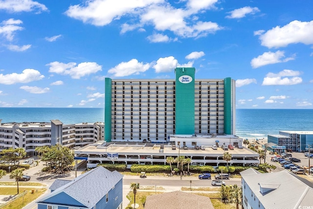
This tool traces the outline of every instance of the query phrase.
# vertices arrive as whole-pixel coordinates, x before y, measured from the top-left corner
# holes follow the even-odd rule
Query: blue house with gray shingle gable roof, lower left
[[[57,179],[38,209],[122,209],[123,175],[99,166],[72,181]]]

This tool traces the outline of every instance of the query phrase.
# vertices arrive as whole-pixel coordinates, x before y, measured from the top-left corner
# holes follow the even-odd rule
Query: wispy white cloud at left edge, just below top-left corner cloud
[[[0,35],[4,36],[9,41],[12,41],[14,38],[14,33],[16,31],[21,31],[24,29],[23,27],[18,26],[19,24],[22,24],[22,23],[23,22],[20,19],[3,20],[1,22],[2,26],[0,26]]]

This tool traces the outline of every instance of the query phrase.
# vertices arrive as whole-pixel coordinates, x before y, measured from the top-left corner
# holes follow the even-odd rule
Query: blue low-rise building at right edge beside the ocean
[[[313,148],[313,131],[279,131],[278,135],[268,135],[269,142],[302,152]]]

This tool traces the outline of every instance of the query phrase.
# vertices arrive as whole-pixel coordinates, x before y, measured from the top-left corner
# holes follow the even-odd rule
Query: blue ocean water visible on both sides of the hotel
[[[104,122],[104,108],[0,108],[2,123],[50,122],[64,124]],[[279,131],[313,131],[313,110],[237,109],[236,135],[266,138]]]

